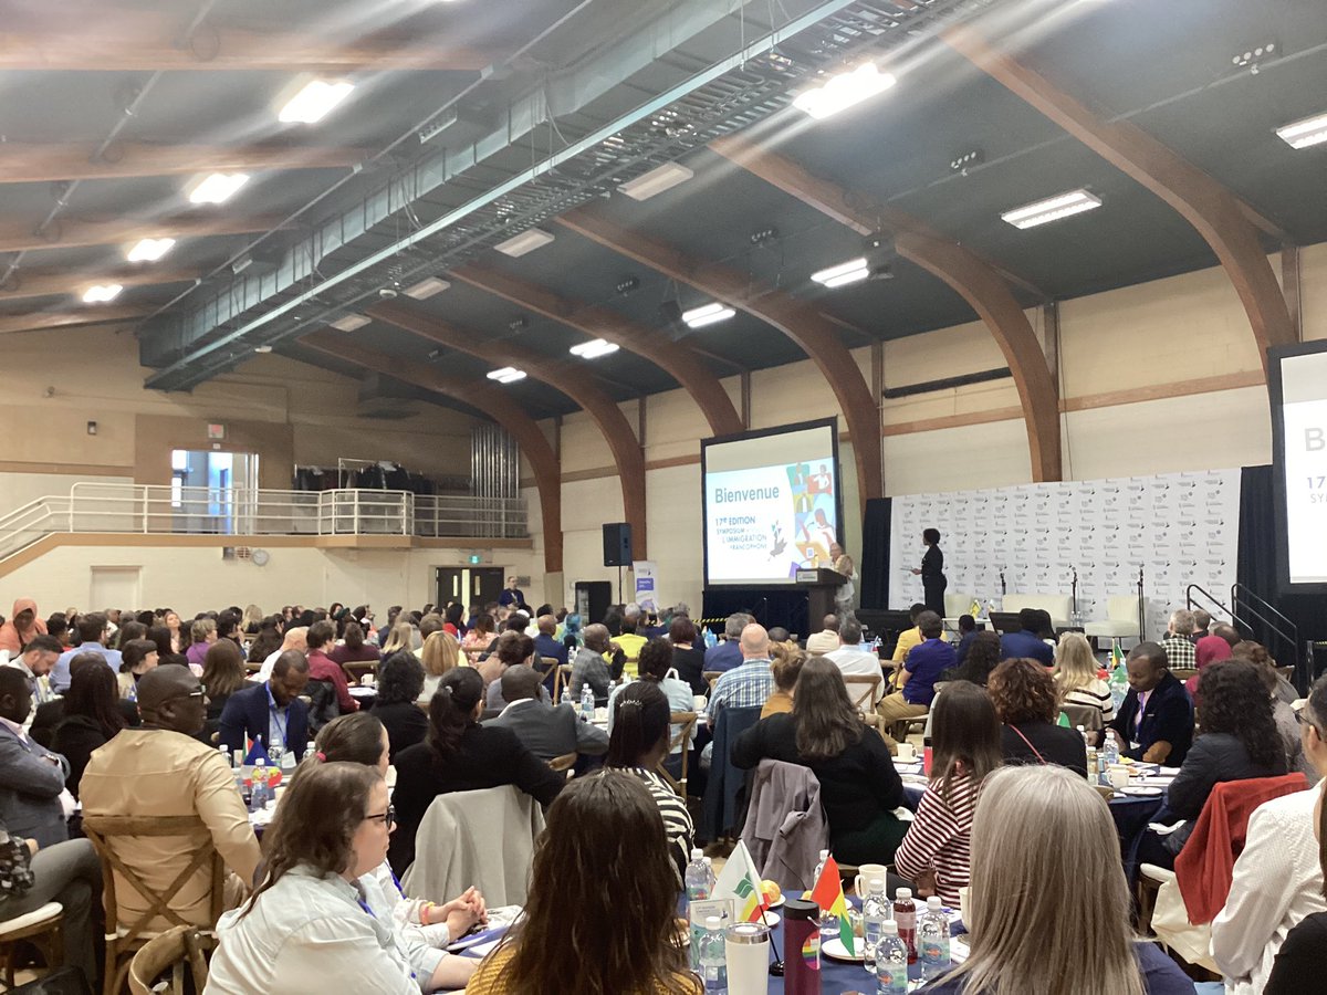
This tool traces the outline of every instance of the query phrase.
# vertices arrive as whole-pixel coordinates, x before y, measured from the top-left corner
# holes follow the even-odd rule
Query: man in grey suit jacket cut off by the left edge
[[[16,836],[50,846],[69,838],[61,801],[69,762],[23,731],[31,710],[27,674],[0,667],[0,819]]]

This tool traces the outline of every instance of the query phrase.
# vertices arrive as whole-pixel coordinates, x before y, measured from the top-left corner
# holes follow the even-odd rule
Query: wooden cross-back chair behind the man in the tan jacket
[[[162,892],[157,892],[145,884],[142,877],[125,864],[119,854],[110,846],[113,840],[123,837],[126,844],[121,849],[131,852],[131,841],[134,838],[179,837],[196,832],[203,833],[206,842],[194,853],[188,865]],[[92,840],[92,845],[101,857],[102,903],[106,909],[106,968],[102,991],[105,995],[119,995],[129,974],[131,955],[146,947],[150,941],[162,935],[161,931],[149,929],[149,923],[153,919],[161,917],[167,919],[171,926],[184,926],[191,930],[198,929],[195,923],[186,922],[170,903],[188,880],[199,869],[207,866],[208,862],[211,862],[212,877],[208,929],[216,925],[224,899],[226,864],[212,845],[210,830],[198,816],[92,816],[85,813],[84,833]],[[149,903],[147,911],[127,925],[122,922],[119,915],[119,902],[115,894],[117,873]]]

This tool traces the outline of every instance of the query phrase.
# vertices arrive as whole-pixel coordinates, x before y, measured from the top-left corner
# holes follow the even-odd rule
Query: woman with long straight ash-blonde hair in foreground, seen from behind
[[[967,918],[971,953],[926,995],[1193,995],[1180,967],[1133,935],[1115,823],[1062,767],[986,777]]]

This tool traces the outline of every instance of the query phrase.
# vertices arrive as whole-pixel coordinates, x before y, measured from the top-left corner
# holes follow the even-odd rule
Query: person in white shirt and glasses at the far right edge
[[[1327,677],[1314,683],[1302,719],[1304,754],[1327,775]],[[1263,803],[1249,817],[1230,894],[1212,921],[1212,959],[1231,995],[1263,992],[1287,934],[1307,915],[1327,911],[1314,833],[1320,800],[1322,787],[1296,791]]]

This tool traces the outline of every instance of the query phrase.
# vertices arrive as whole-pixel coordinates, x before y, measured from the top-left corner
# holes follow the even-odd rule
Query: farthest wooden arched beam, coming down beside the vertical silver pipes
[[[451,377],[430,366],[403,366],[398,360],[350,342],[333,332],[311,332],[300,342],[328,356],[348,360],[366,370],[395,377],[406,383],[462,401],[492,418],[511,432],[529,460],[539,490],[539,511],[544,519],[544,569],[563,570],[563,475],[553,447],[524,409],[503,391],[474,379]]]

